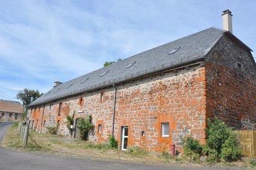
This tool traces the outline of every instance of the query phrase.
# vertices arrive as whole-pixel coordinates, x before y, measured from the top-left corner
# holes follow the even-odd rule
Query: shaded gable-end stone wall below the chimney
[[[256,68],[250,52],[223,36],[207,56],[207,117],[256,130]]]

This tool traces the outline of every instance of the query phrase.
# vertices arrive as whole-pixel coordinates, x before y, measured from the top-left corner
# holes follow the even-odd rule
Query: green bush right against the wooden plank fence
[[[241,151],[237,148],[236,135],[230,134],[223,143],[220,157],[228,162],[236,161],[240,158]]]

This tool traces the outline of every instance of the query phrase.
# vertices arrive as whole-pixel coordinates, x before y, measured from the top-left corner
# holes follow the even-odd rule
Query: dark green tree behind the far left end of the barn
[[[22,101],[22,104],[24,107],[31,104],[36,100],[36,98],[41,97],[44,95],[44,93],[40,93],[38,89],[27,89],[24,88],[23,90],[20,90],[19,93],[16,95],[17,99],[20,99]]]

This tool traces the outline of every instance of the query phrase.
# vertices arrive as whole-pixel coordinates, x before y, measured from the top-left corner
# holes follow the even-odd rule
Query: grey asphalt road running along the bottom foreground
[[[6,133],[8,127],[12,123],[0,122],[0,142],[3,140],[3,136]],[[108,162],[104,160],[92,160],[58,157],[52,155],[40,155],[35,153],[28,153],[22,151],[15,151],[0,146],[0,170],[4,169],[198,169],[198,167],[191,166],[156,166],[148,164],[132,164],[124,162]],[[199,168],[209,169],[209,167]],[[211,169],[220,169],[217,167]],[[225,168],[227,169],[227,167]]]

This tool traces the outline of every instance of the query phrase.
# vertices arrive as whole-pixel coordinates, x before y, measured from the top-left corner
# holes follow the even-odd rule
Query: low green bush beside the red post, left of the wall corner
[[[202,145],[193,137],[185,137],[182,139],[184,144],[184,156],[189,160],[195,161],[200,158],[202,153]]]

